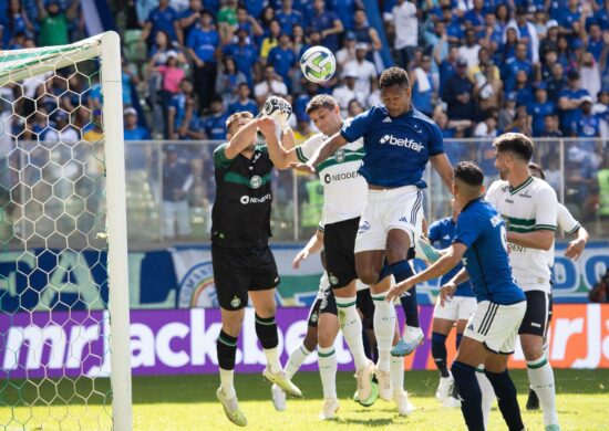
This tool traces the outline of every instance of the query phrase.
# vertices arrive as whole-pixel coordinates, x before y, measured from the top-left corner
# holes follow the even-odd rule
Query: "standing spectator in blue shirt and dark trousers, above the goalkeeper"
[[[186,42],[195,66],[193,77],[196,83],[199,111],[208,108],[216,94],[216,51],[219,42],[218,32],[213,27],[211,13],[204,10],[198,25],[190,31]]]

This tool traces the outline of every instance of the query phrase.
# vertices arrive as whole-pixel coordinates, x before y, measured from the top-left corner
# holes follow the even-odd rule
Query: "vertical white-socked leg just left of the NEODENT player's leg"
[[[334,418],[339,410],[337,396],[337,354],[334,340],[340,330],[337,303],[331,290],[321,302],[318,322],[318,365],[323,391],[320,419]]]

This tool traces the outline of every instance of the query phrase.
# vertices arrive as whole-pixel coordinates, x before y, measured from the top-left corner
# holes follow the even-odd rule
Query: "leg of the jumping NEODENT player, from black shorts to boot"
[[[362,320],[357,309],[355,257],[353,250],[360,220],[351,219],[326,224],[323,249],[328,280],[337,303],[340,328],[355,362],[358,396],[370,397],[373,364],[367,358],[362,340]]]

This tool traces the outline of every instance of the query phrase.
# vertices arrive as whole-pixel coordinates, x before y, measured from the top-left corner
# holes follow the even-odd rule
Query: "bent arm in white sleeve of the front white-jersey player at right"
[[[556,232],[556,192],[547,187],[536,196],[535,230],[531,232],[507,232],[507,241],[528,249],[550,250]]]

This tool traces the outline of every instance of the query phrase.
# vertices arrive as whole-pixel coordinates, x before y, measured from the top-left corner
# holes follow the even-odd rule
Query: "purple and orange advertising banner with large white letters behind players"
[[[279,349],[285,364],[307,332],[308,309],[279,308]],[[402,313],[398,312],[402,317]],[[435,369],[431,355],[433,307],[421,307],[425,341],[405,358],[406,369]],[[217,372],[218,309],[138,309],[131,313],[131,364],[133,374],[177,375]],[[10,378],[63,375],[106,376],[110,372],[109,316],[106,312],[0,314],[0,372]],[[555,368],[609,368],[609,305],[557,305],[549,332],[550,361]],[[336,343],[340,370],[353,370],[342,340]],[[454,355],[454,333],[447,341]],[[265,354],[256,336],[254,309],[246,309],[237,350],[238,372],[260,372]],[[519,346],[512,368],[525,368]],[[317,370],[317,355],[302,370]]]

